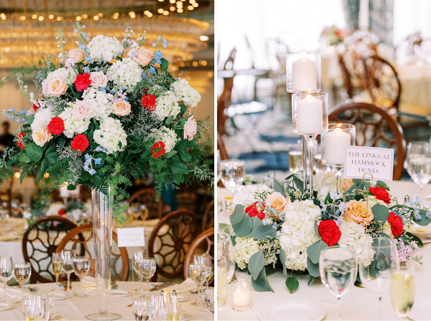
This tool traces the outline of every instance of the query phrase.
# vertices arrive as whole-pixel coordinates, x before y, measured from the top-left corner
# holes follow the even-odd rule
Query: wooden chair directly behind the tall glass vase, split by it
[[[90,271],[89,275],[94,276],[94,259],[92,259],[92,254],[94,250],[89,250],[87,247],[87,242],[93,239],[93,224],[85,224],[81,225],[78,228],[74,228],[65,237],[61,240],[59,245],[57,246],[56,252],[61,252],[62,249],[65,249],[69,242],[72,242],[72,249],[77,252],[81,252],[81,256],[87,256],[90,260]],[[112,240],[117,243],[117,234],[112,231]],[[91,244],[93,246],[93,244]],[[68,246],[69,248],[69,246]],[[111,271],[111,280],[119,280],[119,281],[127,281],[129,276],[129,257],[127,254],[127,250],[125,247],[112,247],[111,260],[112,269]],[[117,263],[121,259],[121,271],[117,269]]]

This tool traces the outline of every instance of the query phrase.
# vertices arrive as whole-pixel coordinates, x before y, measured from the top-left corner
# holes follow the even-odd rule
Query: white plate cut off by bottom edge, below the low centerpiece
[[[322,320],[325,318],[325,310],[312,302],[307,301],[282,301],[267,306],[259,312],[259,320]]]

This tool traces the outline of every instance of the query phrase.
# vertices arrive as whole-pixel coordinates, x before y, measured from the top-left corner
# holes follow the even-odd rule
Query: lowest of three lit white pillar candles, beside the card
[[[344,164],[345,147],[350,146],[350,134],[345,133],[340,128],[335,128],[325,135],[325,142],[326,162],[328,164]]]

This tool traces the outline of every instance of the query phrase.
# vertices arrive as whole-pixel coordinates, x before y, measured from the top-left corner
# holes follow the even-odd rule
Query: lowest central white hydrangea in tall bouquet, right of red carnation
[[[122,151],[127,145],[127,134],[123,129],[122,123],[115,118],[108,117],[102,121],[100,128],[93,134],[93,140],[103,148],[108,154]],[[121,147],[119,143],[121,142]]]

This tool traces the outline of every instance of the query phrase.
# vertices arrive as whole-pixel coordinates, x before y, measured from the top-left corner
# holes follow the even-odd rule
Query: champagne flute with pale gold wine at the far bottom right
[[[415,266],[412,262],[390,266],[390,301],[397,315],[407,320],[415,300]]]

